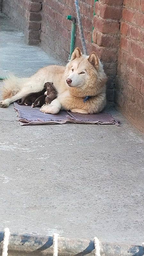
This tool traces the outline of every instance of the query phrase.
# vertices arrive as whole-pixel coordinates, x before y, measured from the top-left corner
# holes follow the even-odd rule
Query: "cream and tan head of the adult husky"
[[[79,48],[72,53],[71,60],[66,66],[65,78],[70,87],[83,87],[92,81],[96,83],[97,72],[102,65],[95,52],[90,56],[82,55]]]

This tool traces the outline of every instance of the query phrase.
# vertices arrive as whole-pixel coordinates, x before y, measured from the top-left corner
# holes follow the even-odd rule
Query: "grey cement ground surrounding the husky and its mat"
[[[0,76],[56,63],[1,19]],[[2,84],[2,82],[1,82]],[[0,230],[144,241],[143,135],[115,110],[115,125],[18,123],[0,108]]]

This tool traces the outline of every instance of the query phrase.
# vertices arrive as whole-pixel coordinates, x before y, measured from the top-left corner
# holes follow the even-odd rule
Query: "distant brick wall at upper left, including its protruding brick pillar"
[[[25,33],[28,44],[39,44],[41,0],[3,0],[2,11]]]

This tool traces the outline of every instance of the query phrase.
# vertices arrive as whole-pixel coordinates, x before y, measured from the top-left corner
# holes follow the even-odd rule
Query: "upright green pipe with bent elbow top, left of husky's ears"
[[[70,53],[69,53],[69,57],[68,57],[68,60],[70,60],[71,55],[74,51],[74,46],[75,46],[76,18],[72,15],[68,15],[67,20],[71,21],[71,41],[70,41]]]

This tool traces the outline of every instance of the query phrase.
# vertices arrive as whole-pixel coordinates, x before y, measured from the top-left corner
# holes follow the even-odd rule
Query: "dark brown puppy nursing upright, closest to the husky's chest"
[[[44,84],[44,88],[46,89],[46,92],[44,94],[47,95],[45,98],[45,103],[50,104],[52,102],[52,100],[56,99],[57,91],[56,91],[54,85],[49,82]]]

